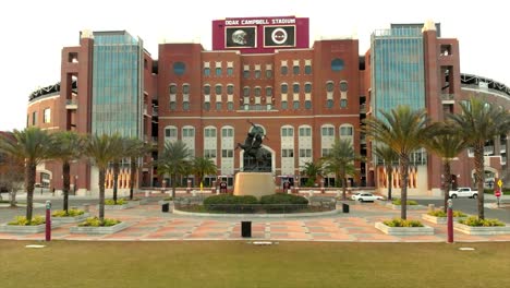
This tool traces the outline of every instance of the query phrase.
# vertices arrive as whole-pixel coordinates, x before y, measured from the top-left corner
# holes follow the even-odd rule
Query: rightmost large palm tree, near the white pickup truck
[[[474,151],[478,218],[484,219],[484,146],[486,141],[510,131],[510,115],[503,108],[478,98],[460,103],[461,113],[449,115],[454,129]]]

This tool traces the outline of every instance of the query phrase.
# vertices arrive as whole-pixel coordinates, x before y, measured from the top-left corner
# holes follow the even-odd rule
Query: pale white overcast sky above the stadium
[[[224,17],[309,17],[311,44],[320,37],[360,39],[360,55],[371,33],[390,23],[441,23],[446,38],[460,41],[461,72],[510,86],[508,10],[500,1],[1,1],[0,131],[24,129],[28,95],[60,81],[60,56],[77,46],[80,31],[126,29],[157,58],[158,44],[198,40],[211,48],[211,21]]]

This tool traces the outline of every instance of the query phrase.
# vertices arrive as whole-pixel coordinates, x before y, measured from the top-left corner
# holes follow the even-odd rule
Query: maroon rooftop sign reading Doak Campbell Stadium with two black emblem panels
[[[212,50],[243,53],[274,52],[282,48],[308,48],[308,19],[248,17],[212,21]]]

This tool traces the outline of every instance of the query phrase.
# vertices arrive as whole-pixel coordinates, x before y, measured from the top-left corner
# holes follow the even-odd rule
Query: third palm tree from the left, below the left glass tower
[[[99,170],[99,220],[105,221],[105,177],[110,161],[116,159],[117,149],[114,136],[90,135],[85,143],[84,154],[94,161]]]

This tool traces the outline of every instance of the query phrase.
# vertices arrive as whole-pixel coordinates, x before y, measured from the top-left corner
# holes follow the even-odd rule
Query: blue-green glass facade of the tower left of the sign
[[[92,133],[143,137],[143,41],[94,33]]]

